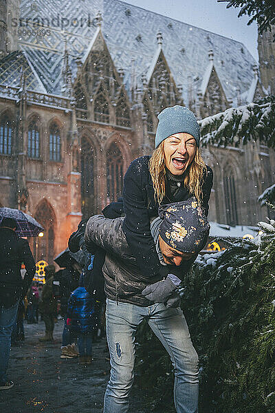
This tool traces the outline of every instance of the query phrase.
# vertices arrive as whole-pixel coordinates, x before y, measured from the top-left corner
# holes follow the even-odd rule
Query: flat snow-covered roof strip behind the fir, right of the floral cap
[[[230,226],[225,224],[219,224],[218,222],[210,222],[210,237],[242,238],[244,235],[248,234],[252,235],[253,237],[256,237],[257,233],[259,233],[259,228],[257,226]]]

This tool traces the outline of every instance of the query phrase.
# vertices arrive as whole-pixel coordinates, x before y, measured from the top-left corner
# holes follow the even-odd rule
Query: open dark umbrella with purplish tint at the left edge
[[[37,237],[44,230],[39,222],[20,209],[0,208],[0,222],[3,218],[12,218],[17,222],[15,232],[21,237]]]

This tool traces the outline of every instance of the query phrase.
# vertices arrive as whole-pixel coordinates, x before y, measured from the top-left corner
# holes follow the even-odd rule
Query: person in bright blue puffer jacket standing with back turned
[[[78,337],[79,363],[91,363],[92,333],[96,325],[94,298],[84,287],[84,274],[80,275],[79,286],[69,297],[67,324]]]

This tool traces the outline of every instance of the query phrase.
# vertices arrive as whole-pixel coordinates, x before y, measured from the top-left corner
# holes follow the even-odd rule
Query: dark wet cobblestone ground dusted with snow
[[[94,343],[94,361],[78,365],[77,359],[60,358],[63,320],[54,330],[54,343],[40,343],[44,323],[25,324],[25,341],[12,347],[8,378],[14,387],[0,392],[3,413],[99,413],[109,379],[106,341]],[[135,386],[129,413],[149,413],[144,390]]]

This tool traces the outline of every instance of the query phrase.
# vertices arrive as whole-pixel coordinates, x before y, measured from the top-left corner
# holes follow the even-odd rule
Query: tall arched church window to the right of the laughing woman
[[[236,186],[232,170],[227,170],[223,176],[223,190],[225,196],[226,223],[235,226],[238,224],[238,212],[236,204]]]

